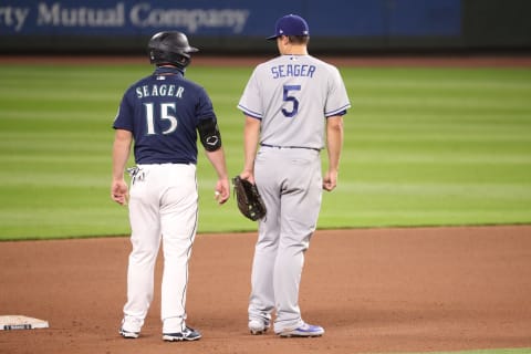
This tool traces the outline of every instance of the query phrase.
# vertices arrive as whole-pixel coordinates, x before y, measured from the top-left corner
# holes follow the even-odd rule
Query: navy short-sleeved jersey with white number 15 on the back
[[[157,67],[127,88],[113,127],[133,133],[136,164],[196,164],[197,125],[207,118],[216,114],[205,88]]]

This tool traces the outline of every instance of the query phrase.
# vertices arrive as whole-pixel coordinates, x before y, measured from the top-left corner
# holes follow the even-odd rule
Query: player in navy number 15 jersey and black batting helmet
[[[216,199],[229,198],[221,135],[211,101],[186,80],[190,53],[180,32],[160,32],[148,43],[155,72],[124,94],[114,121],[111,197],[128,201],[133,250],[127,270],[127,302],[119,334],[139,336],[154,293],[155,262],[163,242],[162,321],[164,341],[195,341],[201,334],[186,324],[188,261],[197,230],[197,134],[216,169]],[[124,169],[134,142],[136,167],[131,194]],[[129,196],[129,197],[128,197]]]

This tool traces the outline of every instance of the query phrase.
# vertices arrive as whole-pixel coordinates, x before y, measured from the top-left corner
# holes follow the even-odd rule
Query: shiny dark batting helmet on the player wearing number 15
[[[199,50],[188,44],[185,33],[167,31],[153,35],[147,51],[152,64],[171,64],[185,69],[190,63],[190,53]]]

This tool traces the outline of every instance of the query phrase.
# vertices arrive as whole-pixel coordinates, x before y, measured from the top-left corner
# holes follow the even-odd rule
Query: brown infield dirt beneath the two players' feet
[[[142,336],[118,335],[128,238],[2,242],[0,314],[48,320],[50,329],[1,331],[0,353],[531,347],[531,226],[317,231],[301,308],[325,327],[320,339],[247,332],[254,241],[252,233],[198,236],[187,308],[204,337],[194,343],[162,341],[158,288]],[[160,274],[158,262],[157,283]]]

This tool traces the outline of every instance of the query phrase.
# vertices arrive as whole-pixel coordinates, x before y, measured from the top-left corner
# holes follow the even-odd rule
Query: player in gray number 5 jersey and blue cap
[[[351,104],[339,70],[309,55],[309,39],[303,18],[280,18],[268,38],[277,41],[280,55],[254,69],[238,104],[246,115],[240,177],[257,184],[268,210],[259,221],[252,264],[252,334],[270,327],[273,311],[274,333],[282,337],[324,333],[303,321],[299,285],[322,189],[337,184],[343,115]],[[324,147],[329,168],[323,178]]]

